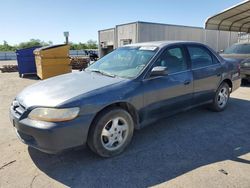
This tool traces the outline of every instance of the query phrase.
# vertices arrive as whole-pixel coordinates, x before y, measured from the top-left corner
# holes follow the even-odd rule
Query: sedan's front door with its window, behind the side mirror
[[[163,51],[156,60],[153,67],[165,66],[168,74],[149,76],[143,80],[143,119],[154,120],[168,116],[191,105],[193,76],[186,57],[186,51],[182,46],[172,46]]]

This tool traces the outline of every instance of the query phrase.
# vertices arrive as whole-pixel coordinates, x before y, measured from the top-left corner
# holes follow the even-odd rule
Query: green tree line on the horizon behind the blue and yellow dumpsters
[[[0,51],[15,51],[17,49],[29,48],[33,46],[48,46],[52,45],[51,41],[44,42],[39,39],[30,39],[28,42],[21,42],[18,45],[9,45],[6,41],[3,41],[3,44],[0,44]],[[70,43],[71,50],[84,50],[84,49],[97,49],[97,41],[88,40],[86,43]]]

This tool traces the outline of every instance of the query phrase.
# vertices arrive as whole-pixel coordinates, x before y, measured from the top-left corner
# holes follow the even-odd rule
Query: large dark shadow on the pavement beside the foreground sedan
[[[196,168],[250,152],[250,101],[232,98],[224,112],[200,107],[136,131],[120,156],[103,159],[89,149],[48,155],[28,148],[35,165],[69,187],[148,187]],[[218,169],[220,170],[220,169]]]

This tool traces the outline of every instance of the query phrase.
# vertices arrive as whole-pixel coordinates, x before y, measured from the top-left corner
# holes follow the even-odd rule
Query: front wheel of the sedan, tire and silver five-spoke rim
[[[91,125],[88,146],[101,157],[113,157],[129,145],[134,132],[131,115],[121,108],[111,108],[99,114]]]

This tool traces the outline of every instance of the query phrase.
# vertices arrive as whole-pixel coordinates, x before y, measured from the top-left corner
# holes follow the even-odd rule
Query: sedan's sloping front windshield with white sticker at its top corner
[[[123,47],[114,50],[86,70],[107,76],[134,78],[156,53],[157,47]]]

